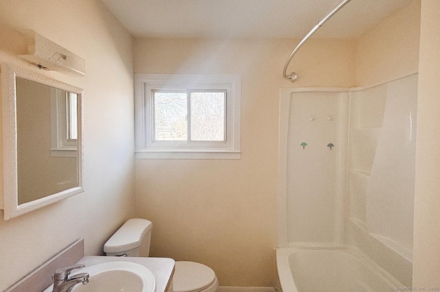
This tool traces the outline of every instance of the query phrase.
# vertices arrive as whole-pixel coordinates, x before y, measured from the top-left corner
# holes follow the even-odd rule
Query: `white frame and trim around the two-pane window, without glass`
[[[225,141],[155,141],[153,91],[226,92]],[[241,76],[218,74],[135,74],[136,159],[240,159]]]

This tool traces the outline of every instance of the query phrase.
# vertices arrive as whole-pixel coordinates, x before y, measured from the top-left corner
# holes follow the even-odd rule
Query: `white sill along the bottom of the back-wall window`
[[[135,159],[241,159],[240,151],[163,151],[163,150],[137,150]]]

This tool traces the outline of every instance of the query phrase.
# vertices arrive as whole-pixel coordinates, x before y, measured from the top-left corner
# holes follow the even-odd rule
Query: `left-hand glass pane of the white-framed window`
[[[154,92],[155,139],[186,140],[186,92]]]

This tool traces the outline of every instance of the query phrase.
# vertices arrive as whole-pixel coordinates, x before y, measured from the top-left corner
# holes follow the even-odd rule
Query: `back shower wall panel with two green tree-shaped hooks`
[[[349,93],[294,92],[290,98],[288,241],[335,243],[343,237]]]

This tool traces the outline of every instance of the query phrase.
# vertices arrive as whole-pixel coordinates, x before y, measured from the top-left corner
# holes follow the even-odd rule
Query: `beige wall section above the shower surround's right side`
[[[419,66],[420,0],[413,0],[358,38],[356,86],[401,77]]]

